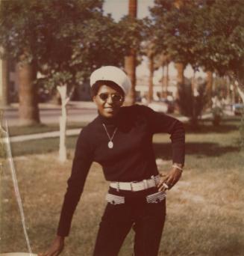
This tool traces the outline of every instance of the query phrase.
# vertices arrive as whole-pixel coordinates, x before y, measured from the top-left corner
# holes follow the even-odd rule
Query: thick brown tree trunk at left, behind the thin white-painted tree
[[[19,62],[17,64],[19,76],[19,123],[22,125],[40,124],[38,109],[37,70],[33,63]]]

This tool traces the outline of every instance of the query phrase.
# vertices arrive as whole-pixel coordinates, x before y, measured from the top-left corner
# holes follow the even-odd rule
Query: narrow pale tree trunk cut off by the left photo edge
[[[1,61],[1,81],[0,81],[0,106],[7,106],[9,103],[8,99],[8,68],[7,60],[2,59]]]

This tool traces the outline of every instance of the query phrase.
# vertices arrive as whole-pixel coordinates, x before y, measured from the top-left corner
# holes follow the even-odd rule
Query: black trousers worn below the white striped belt
[[[110,204],[101,218],[93,256],[116,256],[125,237],[134,229],[134,256],[157,256],[166,216],[166,200],[147,203],[146,195],[156,188],[140,192],[109,190],[125,197],[125,204]]]

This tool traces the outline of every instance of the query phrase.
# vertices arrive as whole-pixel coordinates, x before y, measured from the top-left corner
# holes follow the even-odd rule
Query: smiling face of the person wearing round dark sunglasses
[[[116,88],[101,85],[98,94],[93,96],[93,101],[96,103],[100,115],[104,118],[113,118],[124,103],[124,97]]]

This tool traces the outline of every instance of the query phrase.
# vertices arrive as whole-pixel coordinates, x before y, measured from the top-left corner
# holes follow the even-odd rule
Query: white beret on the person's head
[[[125,95],[131,88],[131,80],[119,67],[104,66],[93,71],[90,76],[90,86],[92,87],[97,81],[112,81],[119,85]]]

